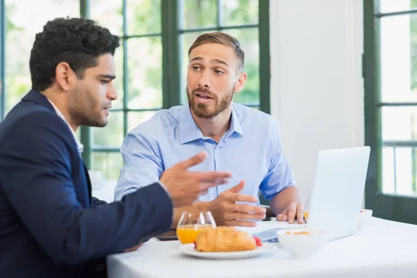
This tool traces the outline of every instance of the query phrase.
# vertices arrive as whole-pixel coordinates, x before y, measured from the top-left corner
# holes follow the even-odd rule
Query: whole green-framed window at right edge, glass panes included
[[[364,3],[366,206],[417,222],[417,1]]]

